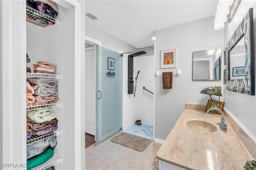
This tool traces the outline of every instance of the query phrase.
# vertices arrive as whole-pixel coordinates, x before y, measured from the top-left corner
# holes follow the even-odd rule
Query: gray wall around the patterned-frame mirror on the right
[[[236,28],[248,12],[249,8],[254,8],[254,43],[255,43],[255,29],[256,29],[256,1],[255,0],[242,0],[236,14],[230,24],[225,23],[225,38],[224,45],[234,34]],[[254,44],[256,45],[256,44]],[[256,46],[254,47],[256,49]],[[255,67],[254,67],[255,68]],[[224,86],[226,88],[226,86]],[[231,113],[234,119],[248,131],[249,135],[256,139],[256,97],[236,93],[233,91],[224,90],[225,108]]]

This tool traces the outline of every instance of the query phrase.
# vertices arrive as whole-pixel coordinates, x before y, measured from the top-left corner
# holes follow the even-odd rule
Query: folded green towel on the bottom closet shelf
[[[27,170],[30,170],[32,168],[35,168],[36,166],[44,164],[46,161],[48,161],[50,158],[52,158],[53,154],[54,154],[54,149],[47,148],[41,154],[28,159],[27,160]]]

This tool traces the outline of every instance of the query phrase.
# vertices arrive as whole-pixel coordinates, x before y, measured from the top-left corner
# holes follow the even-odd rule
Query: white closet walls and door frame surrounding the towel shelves
[[[3,131],[4,126],[6,131],[1,132],[0,135],[0,163],[26,163],[25,89],[26,53],[28,53],[31,59],[28,67],[32,69],[32,72],[32,64],[37,63],[37,61],[47,61],[55,63],[57,65],[55,73],[61,74],[61,79],[58,79],[61,107],[55,108],[61,135],[57,136],[54,154],[60,156],[62,162],[54,165],[55,169],[85,169],[83,124],[85,109],[84,106],[80,105],[80,94],[84,93],[83,90],[80,91],[81,85],[84,85],[84,78],[81,79],[84,75],[80,72],[81,65],[84,66],[84,59],[81,62],[80,57],[84,57],[85,2],[80,1],[81,4],[77,1],[69,1],[69,4],[64,0],[55,2],[59,7],[57,18],[61,22],[58,25],[54,24],[45,28],[26,22],[25,13],[22,13],[26,11],[26,1],[0,2],[1,14],[6,12],[6,19],[2,20],[1,18],[1,33],[2,28],[5,31],[8,30],[5,32],[6,38],[1,37],[1,40],[6,42],[8,47],[7,51],[1,53],[1,71],[5,69],[4,73],[9,72],[9,77],[1,74],[1,93],[4,91],[6,91],[5,95],[10,93],[7,95],[10,100],[1,100],[1,131]],[[64,4],[65,7],[60,4]],[[4,10],[5,8],[6,10]],[[12,23],[14,24],[12,25]],[[26,29],[23,34],[24,37],[20,34],[23,28]],[[14,37],[16,35],[20,36]],[[8,43],[8,41],[12,42]],[[13,44],[16,46],[14,47]],[[1,47],[4,47],[2,43]],[[12,53],[16,55],[10,55]],[[8,56],[9,58],[7,58]],[[11,86],[10,83],[12,83]],[[83,97],[82,101],[84,101]],[[2,107],[3,105],[6,106]],[[10,113],[7,112],[8,109],[10,109]],[[12,123],[10,124],[10,122]]]

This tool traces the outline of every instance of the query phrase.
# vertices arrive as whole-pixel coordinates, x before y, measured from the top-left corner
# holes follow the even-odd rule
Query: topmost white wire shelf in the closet
[[[26,21],[41,27],[50,26],[56,23],[55,18],[30,8],[29,6],[26,6]]]

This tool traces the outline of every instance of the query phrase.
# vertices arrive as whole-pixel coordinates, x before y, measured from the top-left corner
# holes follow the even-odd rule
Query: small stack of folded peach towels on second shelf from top
[[[56,65],[46,61],[38,61],[33,64],[34,73],[49,73],[54,74]]]

